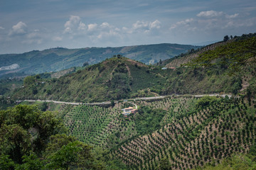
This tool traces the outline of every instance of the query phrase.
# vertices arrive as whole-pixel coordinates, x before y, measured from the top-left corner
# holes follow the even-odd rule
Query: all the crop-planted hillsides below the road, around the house
[[[65,124],[79,140],[109,148],[110,158],[122,159],[129,169],[158,169],[161,159],[168,160],[174,169],[218,164],[234,153],[246,153],[255,144],[253,104],[248,106],[242,98],[219,98],[196,110],[196,103],[198,98],[136,101],[138,113],[127,118],[121,112],[127,103],[113,108],[80,105],[65,115]],[[150,120],[144,123],[156,125],[146,134],[137,124],[138,116],[146,114],[141,111],[144,108],[165,113],[161,120],[146,118]],[[159,121],[159,126],[150,121]]]

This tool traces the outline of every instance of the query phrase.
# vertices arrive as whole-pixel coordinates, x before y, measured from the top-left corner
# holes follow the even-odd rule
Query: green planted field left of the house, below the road
[[[103,145],[117,123],[117,108],[99,106],[75,106],[65,115],[65,124],[70,134],[82,142],[92,145]]]

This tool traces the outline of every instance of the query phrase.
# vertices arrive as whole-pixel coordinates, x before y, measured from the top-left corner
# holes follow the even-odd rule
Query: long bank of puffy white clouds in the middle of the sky
[[[111,23],[82,23],[79,16],[70,16],[65,22],[63,36],[55,36],[51,38],[53,41],[63,41],[64,38],[70,40],[90,39],[92,43],[109,43],[116,44],[120,40],[131,38],[131,36],[142,37],[143,34],[154,35],[159,34],[161,22],[155,21],[137,21],[131,26],[117,27]]]

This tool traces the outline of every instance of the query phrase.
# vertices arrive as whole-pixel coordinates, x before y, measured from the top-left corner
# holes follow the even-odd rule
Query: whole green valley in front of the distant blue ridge
[[[30,157],[40,169],[255,169],[250,36],[155,65],[112,55],[1,80],[0,167]],[[72,157],[65,168],[63,154]]]

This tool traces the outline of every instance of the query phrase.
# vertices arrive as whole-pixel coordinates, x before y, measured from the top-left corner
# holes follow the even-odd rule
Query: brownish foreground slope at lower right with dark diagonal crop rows
[[[256,139],[255,121],[255,108],[226,98],[120,145],[112,157],[121,158],[130,169],[156,169],[164,158],[174,169],[216,164],[235,152],[248,151]]]

